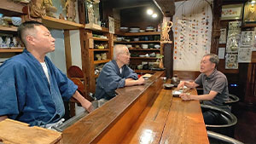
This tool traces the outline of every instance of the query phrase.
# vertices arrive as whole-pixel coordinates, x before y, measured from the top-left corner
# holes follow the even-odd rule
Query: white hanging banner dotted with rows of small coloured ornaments
[[[207,1],[189,0],[175,3],[175,7],[173,69],[199,71],[202,56],[211,49],[211,6]]]

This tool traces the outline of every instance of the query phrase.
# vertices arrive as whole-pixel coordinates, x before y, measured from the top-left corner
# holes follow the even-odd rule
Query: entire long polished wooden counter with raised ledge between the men
[[[63,142],[209,143],[199,101],[172,98],[172,90],[162,89],[162,74],[117,89],[119,95],[64,130]]]

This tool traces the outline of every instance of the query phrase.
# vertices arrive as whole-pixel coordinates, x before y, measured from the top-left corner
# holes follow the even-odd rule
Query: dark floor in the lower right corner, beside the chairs
[[[247,144],[256,143],[256,107],[239,102],[232,107],[236,115],[235,139]]]

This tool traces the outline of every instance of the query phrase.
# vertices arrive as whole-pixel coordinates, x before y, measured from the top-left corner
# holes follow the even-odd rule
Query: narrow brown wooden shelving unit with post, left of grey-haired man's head
[[[103,65],[110,61],[113,57],[113,34],[108,32],[108,29],[101,28],[102,30],[91,30],[86,28],[82,32],[84,42],[84,48],[82,49],[82,67],[85,73],[86,81],[85,85],[88,92],[95,93],[96,89],[96,78],[98,74],[95,74],[96,66]],[[83,33],[84,32],[84,33]],[[107,38],[93,37],[94,35],[102,35]],[[104,45],[104,49],[96,48],[96,45]],[[108,45],[108,46],[107,46]],[[96,54],[101,55],[106,53],[107,60],[97,60]]]

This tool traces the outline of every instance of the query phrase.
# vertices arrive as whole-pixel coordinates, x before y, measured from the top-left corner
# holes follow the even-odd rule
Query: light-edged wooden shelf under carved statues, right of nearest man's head
[[[42,23],[49,28],[61,29],[61,30],[77,30],[84,28],[84,25],[78,24],[72,21],[55,19],[49,16],[42,17]]]

